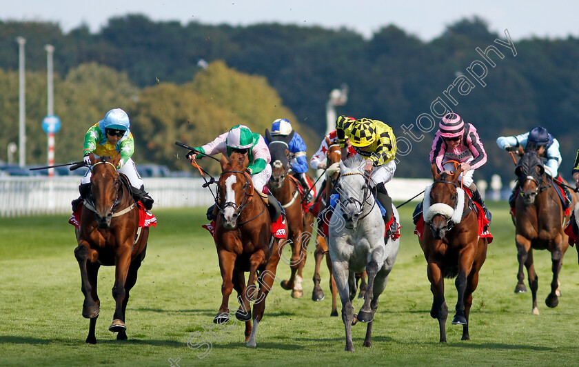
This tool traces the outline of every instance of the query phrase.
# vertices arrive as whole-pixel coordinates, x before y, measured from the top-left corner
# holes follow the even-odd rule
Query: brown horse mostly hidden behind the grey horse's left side
[[[340,144],[336,139],[334,141],[330,141],[328,137],[325,137],[325,143],[328,147],[326,153],[326,167],[331,166],[334,163],[338,163],[342,159],[342,151],[340,148]],[[326,177],[325,180],[325,187],[318,195],[318,212],[324,213],[326,208],[326,204],[329,201],[329,195],[332,193],[334,189],[334,184],[338,179],[339,172],[334,172],[332,175]],[[329,250],[327,248],[327,241],[326,237],[323,235],[323,231],[321,230],[323,217],[318,219],[318,231],[316,232],[316,250],[314,251],[314,259],[316,260],[316,266],[314,268],[314,289],[312,290],[312,301],[321,301],[325,298],[324,291],[322,290],[320,283],[321,283],[321,276],[320,276],[320,265],[324,258],[326,259],[326,266],[329,270],[329,289],[332,292],[332,310],[330,312],[330,316],[338,316],[338,308],[337,308],[337,298],[338,298],[338,288],[336,288],[336,281],[334,280],[334,275],[332,274],[332,259],[329,257]],[[356,284],[361,279],[360,283],[360,292],[358,293],[358,298],[364,298],[367,284],[366,284],[366,272],[356,272]]]

